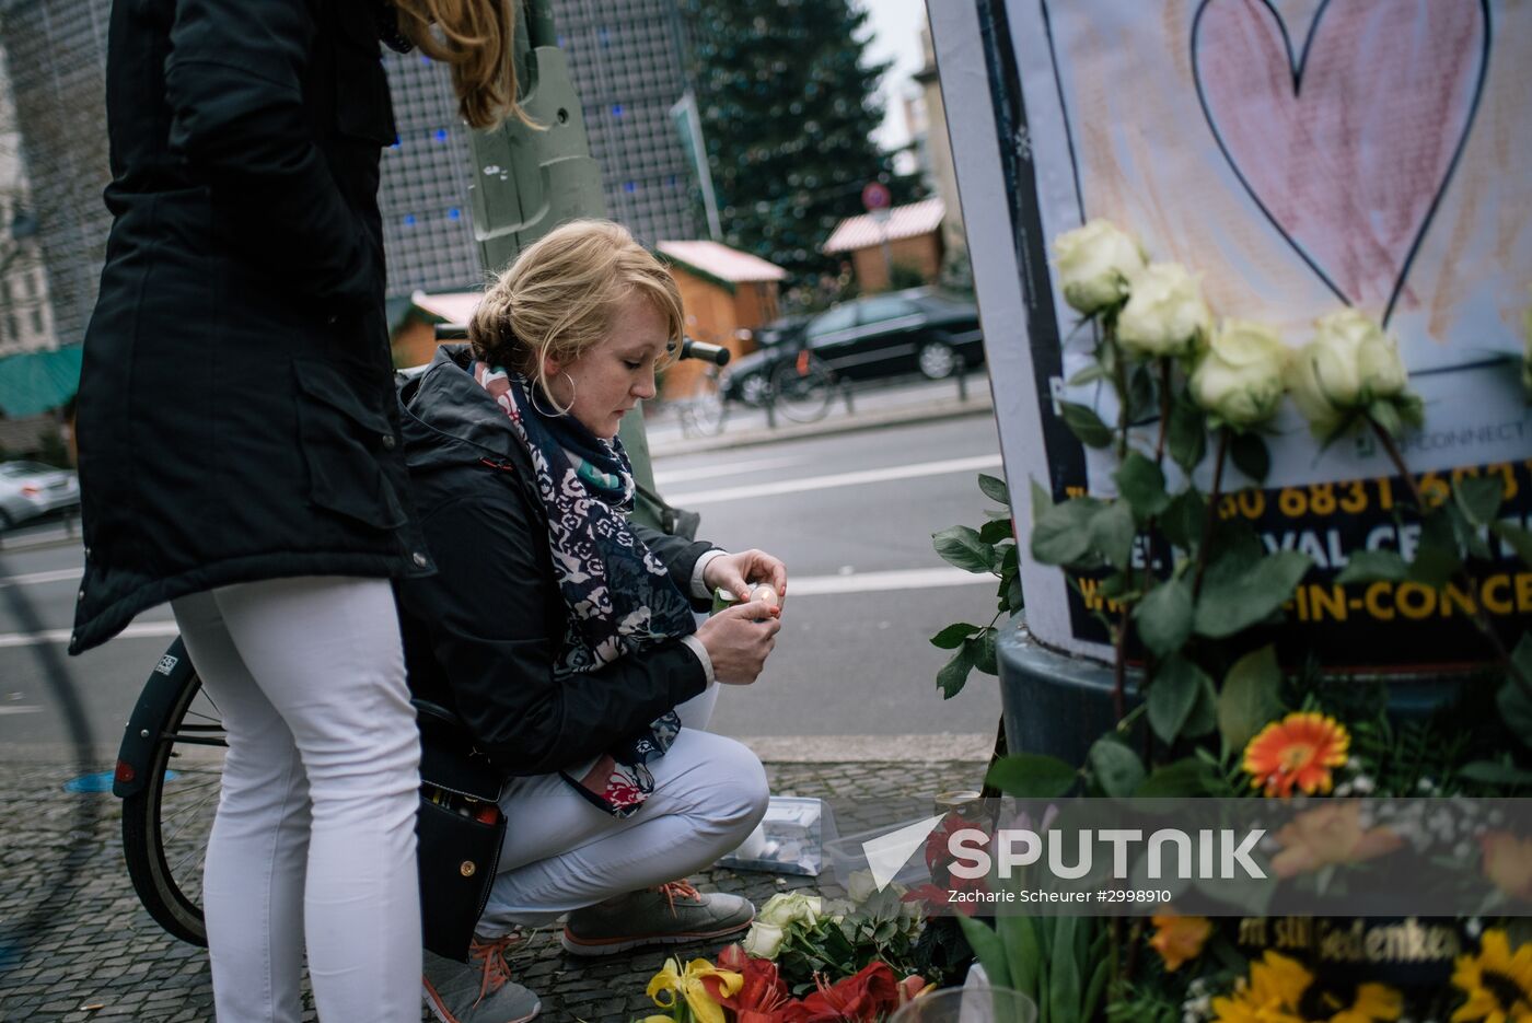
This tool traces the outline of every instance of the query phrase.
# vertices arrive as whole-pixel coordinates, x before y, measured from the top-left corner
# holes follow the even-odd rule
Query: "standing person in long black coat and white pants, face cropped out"
[[[512,28],[512,0],[112,5],[70,651],[169,600],[224,712],[204,882],[224,1023],[299,1018],[305,937],[322,1018],[418,1018],[420,750],[391,577],[432,562],[383,322],[378,40],[452,63],[489,126],[516,112]]]

